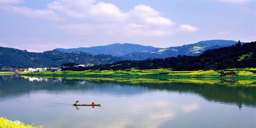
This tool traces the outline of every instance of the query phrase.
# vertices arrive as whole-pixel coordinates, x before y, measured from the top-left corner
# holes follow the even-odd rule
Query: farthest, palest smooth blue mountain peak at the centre
[[[155,48],[152,46],[143,46],[139,44],[109,44],[104,46],[94,46],[94,47],[80,47],[80,48],[70,48],[70,49],[63,49],[63,48],[56,48],[55,50],[61,51],[61,52],[85,52],[90,53],[94,55],[98,54],[106,54],[106,55],[112,55],[112,56],[123,56],[128,53],[132,52],[155,52],[163,48]]]

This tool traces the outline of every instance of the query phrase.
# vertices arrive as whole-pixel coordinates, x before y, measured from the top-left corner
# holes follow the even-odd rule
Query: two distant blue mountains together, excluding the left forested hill
[[[139,44],[110,44],[105,46],[95,46],[88,48],[56,48],[61,52],[85,52],[90,54],[110,54],[120,57],[122,60],[145,60],[147,58],[167,58],[178,55],[198,56],[207,49],[215,49],[236,44],[232,40],[207,40],[195,44],[187,44],[168,48],[155,48],[152,46],[143,46]]]

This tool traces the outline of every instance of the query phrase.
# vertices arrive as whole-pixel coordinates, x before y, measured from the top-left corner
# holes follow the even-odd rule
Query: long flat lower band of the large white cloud
[[[166,36],[172,34],[166,28],[154,28],[141,24],[70,24],[57,28],[71,36]]]

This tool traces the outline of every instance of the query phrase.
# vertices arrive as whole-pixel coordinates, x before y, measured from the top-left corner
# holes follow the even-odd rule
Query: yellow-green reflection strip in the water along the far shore
[[[54,79],[65,79],[65,80],[86,80],[90,82],[117,82],[119,84],[170,84],[170,83],[193,83],[193,84],[218,84],[218,85],[227,85],[229,87],[254,87],[256,86],[256,80],[245,80],[245,79],[200,79],[200,78],[169,78],[169,79],[152,79],[152,78],[100,78],[100,77],[60,77],[60,76],[22,76],[25,79],[29,77],[39,77],[41,80],[54,78]]]

